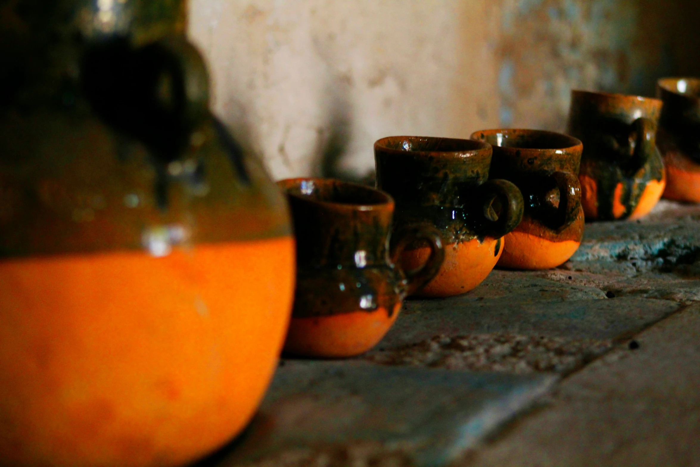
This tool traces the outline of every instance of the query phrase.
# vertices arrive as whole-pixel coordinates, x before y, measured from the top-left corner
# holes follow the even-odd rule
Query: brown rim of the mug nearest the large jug
[[[349,188],[351,190],[356,190],[367,198],[375,197],[377,202],[338,202],[332,200],[318,200],[309,195],[302,193],[294,193],[295,188],[301,189],[302,183],[312,183],[314,190],[320,186],[341,186],[344,188]],[[303,200],[304,202],[309,202],[313,204],[318,204],[323,207],[334,209],[336,211],[393,211],[394,201],[391,195],[384,193],[384,191],[377,190],[377,188],[372,188],[366,185],[360,185],[360,183],[352,183],[349,181],[342,181],[337,179],[322,179],[317,177],[297,177],[293,179],[283,179],[277,181],[277,186],[284,190],[287,196],[294,197],[297,200]],[[310,193],[309,193],[310,194]]]

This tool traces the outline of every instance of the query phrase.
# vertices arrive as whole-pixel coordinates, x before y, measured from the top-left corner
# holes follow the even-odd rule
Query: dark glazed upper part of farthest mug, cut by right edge
[[[661,152],[677,150],[700,164],[700,78],[663,78],[657,97],[664,102],[659,120]]]

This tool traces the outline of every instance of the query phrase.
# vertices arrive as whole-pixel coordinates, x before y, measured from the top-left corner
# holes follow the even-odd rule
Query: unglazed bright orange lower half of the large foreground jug
[[[1,262],[0,463],[179,465],[223,445],[272,377],[293,271],[290,238]]]

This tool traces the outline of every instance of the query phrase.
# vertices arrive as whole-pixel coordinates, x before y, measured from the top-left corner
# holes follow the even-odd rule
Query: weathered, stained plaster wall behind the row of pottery
[[[275,178],[361,177],[389,134],[561,130],[571,88],[700,74],[697,0],[190,0],[214,108]]]

